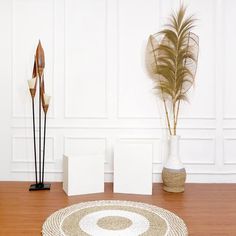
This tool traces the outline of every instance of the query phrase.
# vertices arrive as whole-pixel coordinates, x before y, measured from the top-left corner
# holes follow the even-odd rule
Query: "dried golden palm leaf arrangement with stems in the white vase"
[[[195,19],[185,17],[186,8],[172,14],[166,28],[149,36],[146,64],[154,88],[164,102],[169,133],[176,135],[180,101],[188,100],[198,61],[198,36],[191,32]],[[171,104],[168,111],[166,103]],[[173,132],[169,113],[173,117]]]

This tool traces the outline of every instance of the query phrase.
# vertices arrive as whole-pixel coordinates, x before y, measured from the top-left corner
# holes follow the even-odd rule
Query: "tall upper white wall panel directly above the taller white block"
[[[145,69],[145,47],[157,31],[158,1],[118,1],[118,116],[158,116],[152,81]]]

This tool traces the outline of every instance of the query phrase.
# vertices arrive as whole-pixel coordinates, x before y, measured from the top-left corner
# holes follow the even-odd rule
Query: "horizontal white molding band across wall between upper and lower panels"
[[[50,129],[166,129],[163,119],[48,119]],[[30,118],[13,119],[12,127],[32,127]],[[216,120],[179,120],[179,130],[215,130]]]

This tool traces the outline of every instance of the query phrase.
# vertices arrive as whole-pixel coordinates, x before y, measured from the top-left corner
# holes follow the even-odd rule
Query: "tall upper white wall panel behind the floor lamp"
[[[46,93],[52,94],[54,76],[54,1],[13,0],[12,106],[14,117],[24,118],[31,116],[31,99],[27,80],[32,77],[34,54],[39,39],[46,52]],[[50,107],[49,113],[52,113],[52,107]]]

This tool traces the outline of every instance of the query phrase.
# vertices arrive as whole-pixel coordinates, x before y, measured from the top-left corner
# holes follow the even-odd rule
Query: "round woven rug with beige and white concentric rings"
[[[165,209],[131,201],[92,201],[63,208],[43,224],[44,236],[188,235],[182,219]]]

